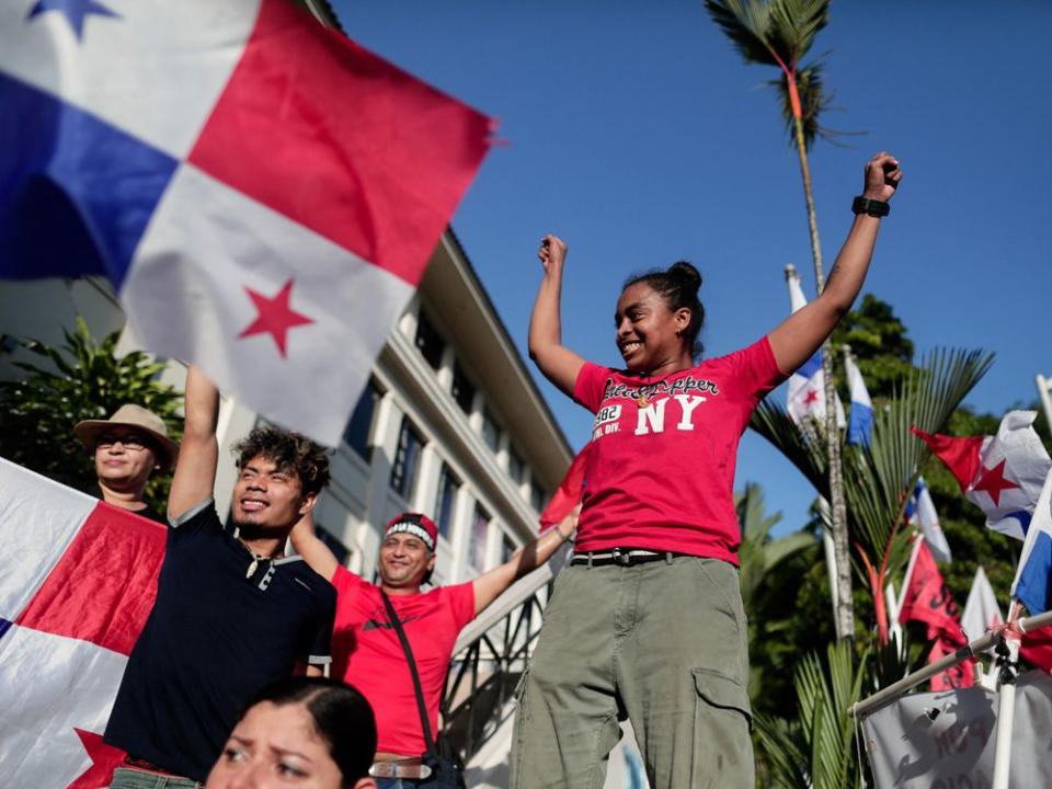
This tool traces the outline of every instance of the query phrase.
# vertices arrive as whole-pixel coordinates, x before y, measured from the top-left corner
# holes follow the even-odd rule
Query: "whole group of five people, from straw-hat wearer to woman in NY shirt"
[[[615,318],[624,369],[563,346],[567,248],[546,237],[529,351],[596,415],[580,516],[467,583],[423,591],[438,534],[421,513],[385,527],[376,583],[350,572],[311,518],[328,456],[275,427],[236,447],[225,527],[213,499],[219,393],[196,367],[181,446],[136,405],[78,424],[102,498],[169,525],[156,603],[105,731],[127,753],[111,786],[425,787],[422,754],[458,633],[576,527],[517,694],[512,786],[598,789],[628,718],[654,789],[751,789],[737,442],[761,399],[849,309],[901,178],[890,155],[870,160],[820,297],[748,347],[700,362],[701,278],[685,262],[625,284]],[[169,468],[162,517],[144,490]]]

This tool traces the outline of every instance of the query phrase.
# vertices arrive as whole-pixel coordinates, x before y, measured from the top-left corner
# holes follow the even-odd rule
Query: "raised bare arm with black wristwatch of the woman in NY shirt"
[[[866,164],[862,196],[887,203],[901,180],[899,161],[890,153],[878,153]],[[770,347],[782,373],[790,374],[811,358],[851,308],[869,271],[879,227],[878,217],[857,215],[826,279],[825,289],[770,332]]]

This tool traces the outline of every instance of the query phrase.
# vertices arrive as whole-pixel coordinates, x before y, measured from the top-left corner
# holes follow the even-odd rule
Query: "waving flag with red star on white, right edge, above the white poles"
[[[1052,459],[1033,430],[1037,411],[1009,411],[992,436],[911,431],[947,465],[964,498],[986,513],[986,526],[1024,539]]]

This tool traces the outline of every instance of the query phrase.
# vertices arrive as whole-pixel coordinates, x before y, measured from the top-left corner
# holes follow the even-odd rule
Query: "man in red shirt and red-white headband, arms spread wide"
[[[409,777],[405,768],[419,764],[426,750],[412,675],[384,606],[381,590],[402,622],[420,674],[432,731],[437,732],[438,704],[460,630],[516,579],[548,561],[570,538],[575,522],[574,514],[473,581],[436,586],[426,593],[420,587],[434,570],[438,539],[438,529],[426,515],[401,513],[388,523],[377,563],[377,584],[341,565],[315,535],[309,517],[297,524],[291,534],[294,547],[336,587],[333,676],[358,688],[376,712],[378,776]],[[397,771],[387,769],[392,762],[405,764]]]

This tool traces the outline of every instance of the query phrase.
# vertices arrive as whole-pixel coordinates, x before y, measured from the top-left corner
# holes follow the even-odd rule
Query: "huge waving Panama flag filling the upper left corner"
[[[0,277],[339,441],[490,121],[290,0],[3,0]]]

